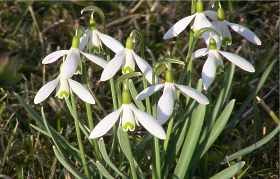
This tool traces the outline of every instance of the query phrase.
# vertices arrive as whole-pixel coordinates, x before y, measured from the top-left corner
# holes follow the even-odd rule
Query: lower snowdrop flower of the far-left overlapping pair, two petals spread
[[[74,92],[84,102],[95,104],[95,100],[88,89],[77,81],[65,78],[64,73],[67,72],[66,68],[67,66],[62,63],[58,77],[40,88],[34,98],[35,104],[44,101],[55,89],[57,91],[56,96],[60,99],[68,98],[70,92]]]

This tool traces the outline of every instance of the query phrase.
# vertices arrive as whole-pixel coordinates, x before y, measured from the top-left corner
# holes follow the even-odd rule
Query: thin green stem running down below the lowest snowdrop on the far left
[[[72,103],[72,105],[69,101],[69,98],[66,98],[65,101],[66,101],[67,107],[68,107],[72,117],[74,118],[76,135],[77,135],[80,155],[81,155],[81,159],[82,159],[82,166],[83,166],[85,175],[87,176],[87,178],[90,178],[90,174],[89,174],[89,170],[88,170],[87,162],[86,162],[86,158],[85,158],[85,150],[84,150],[84,146],[83,146],[83,143],[82,143],[82,136],[81,136],[81,131],[80,131],[80,127],[79,127],[79,119],[78,119],[77,108],[76,108],[76,100],[75,100],[74,95],[71,93],[71,103]]]

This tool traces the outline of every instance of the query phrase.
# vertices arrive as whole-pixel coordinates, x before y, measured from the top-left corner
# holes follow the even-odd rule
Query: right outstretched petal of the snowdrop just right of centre
[[[176,84],[176,87],[185,95],[195,99],[200,104],[209,104],[209,100],[199,91],[184,85]]]

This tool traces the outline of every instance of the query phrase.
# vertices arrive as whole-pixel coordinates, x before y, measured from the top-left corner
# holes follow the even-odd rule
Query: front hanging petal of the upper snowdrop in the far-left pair
[[[71,78],[76,72],[77,67],[80,62],[80,51],[77,48],[71,48],[66,57],[65,62],[63,63],[61,69],[61,77],[64,79]]]

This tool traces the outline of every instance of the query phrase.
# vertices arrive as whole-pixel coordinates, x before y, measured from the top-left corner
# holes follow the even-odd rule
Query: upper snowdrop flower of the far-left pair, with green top
[[[63,75],[63,78],[71,78],[73,74],[76,72],[77,67],[81,60],[80,54],[84,55],[87,59],[101,66],[102,68],[104,68],[105,65],[107,64],[107,62],[104,59],[96,55],[82,52],[81,50],[79,50],[78,47],[79,47],[79,38],[77,36],[74,36],[72,40],[72,46],[69,50],[55,51],[49,54],[48,56],[46,56],[43,59],[42,63],[50,64],[66,55],[66,59],[64,62],[64,66],[65,66],[64,73],[61,74]]]

